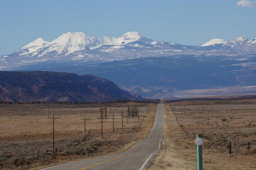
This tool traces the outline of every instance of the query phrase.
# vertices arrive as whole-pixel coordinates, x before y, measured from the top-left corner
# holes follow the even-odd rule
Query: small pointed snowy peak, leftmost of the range
[[[50,42],[44,41],[42,38],[38,38],[34,40],[33,42],[30,42],[26,46],[20,48],[16,51],[16,53],[19,53],[19,55],[26,55],[36,52],[36,50],[39,50],[40,48],[46,46]]]

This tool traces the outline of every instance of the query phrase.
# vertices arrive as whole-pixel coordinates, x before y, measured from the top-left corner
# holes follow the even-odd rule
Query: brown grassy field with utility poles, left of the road
[[[128,104],[130,107],[140,105],[134,102],[117,108],[112,105],[115,132],[112,132],[112,119],[104,119],[103,139],[99,104],[0,104],[0,169],[34,169],[85,159],[87,147],[90,157],[128,150],[147,136],[157,106],[141,106],[140,118],[130,118],[128,122],[123,118],[122,129],[121,112],[126,115]],[[62,119],[55,120],[54,124],[58,152],[46,153],[46,149],[52,150],[52,120],[48,119],[48,114],[54,112],[58,116],[60,110]],[[86,142],[83,140],[84,115]]]

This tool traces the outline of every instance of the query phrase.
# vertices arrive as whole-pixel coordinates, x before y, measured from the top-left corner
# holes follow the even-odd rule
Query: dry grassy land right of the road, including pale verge
[[[162,144],[164,146],[167,141],[167,154],[162,149],[150,169],[196,169],[194,138],[197,133],[204,136],[204,169],[255,169],[256,147],[250,144],[248,150],[248,142],[253,143],[251,141],[256,138],[255,103],[256,100],[235,100],[164,104]],[[232,142],[231,155],[228,155],[229,140]]]

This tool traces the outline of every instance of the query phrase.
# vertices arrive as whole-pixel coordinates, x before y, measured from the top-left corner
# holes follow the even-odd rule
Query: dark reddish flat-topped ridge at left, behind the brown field
[[[103,102],[143,100],[113,82],[90,74],[0,71],[0,101]]]

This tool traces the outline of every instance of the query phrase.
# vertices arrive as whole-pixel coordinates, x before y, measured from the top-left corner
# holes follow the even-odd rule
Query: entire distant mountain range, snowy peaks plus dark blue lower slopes
[[[90,73],[142,96],[177,89],[251,86],[256,82],[256,38],[212,39],[202,46],[186,46],[154,41],[138,32],[118,38],[67,32],[52,42],[38,38],[13,54],[0,56],[0,70]]]

